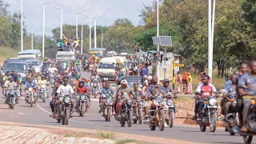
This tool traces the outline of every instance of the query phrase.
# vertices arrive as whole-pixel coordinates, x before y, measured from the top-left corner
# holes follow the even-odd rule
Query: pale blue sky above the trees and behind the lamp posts
[[[23,18],[26,30],[31,32],[34,26],[34,34],[42,34],[42,3],[50,2],[51,0],[23,0]],[[20,12],[21,0],[3,0],[10,4],[8,10],[11,13]],[[92,15],[92,18],[97,19],[97,25],[110,26],[118,18],[128,18],[134,25],[140,24],[140,10],[142,4],[149,5],[152,0],[56,0],[51,5],[60,6],[63,8],[63,24],[75,25],[75,14],[85,10],[86,13]],[[60,26],[61,13],[54,6],[46,5],[46,35],[52,35],[51,30]],[[88,16],[78,14],[78,24],[86,21]]]

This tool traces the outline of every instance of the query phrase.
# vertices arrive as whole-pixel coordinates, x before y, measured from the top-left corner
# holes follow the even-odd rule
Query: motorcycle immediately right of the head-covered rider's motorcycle
[[[143,101],[142,101],[142,98],[141,97],[136,97],[134,98],[135,100],[135,105],[136,105],[136,110],[135,110],[135,113],[134,113],[134,118],[133,118],[133,121],[134,121],[134,124],[138,123],[139,124],[142,124],[142,117],[143,117]]]

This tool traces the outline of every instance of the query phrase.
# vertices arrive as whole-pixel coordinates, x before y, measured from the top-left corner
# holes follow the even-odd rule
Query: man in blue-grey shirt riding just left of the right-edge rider
[[[226,84],[223,88],[226,90],[227,95],[224,95],[224,98],[222,99],[222,112],[225,115],[228,114],[230,110],[230,106],[232,106],[232,102],[234,101],[234,98],[236,98],[236,86],[235,86],[235,81],[236,81],[237,76],[235,74],[232,74],[230,76],[230,81],[232,82],[231,84]]]

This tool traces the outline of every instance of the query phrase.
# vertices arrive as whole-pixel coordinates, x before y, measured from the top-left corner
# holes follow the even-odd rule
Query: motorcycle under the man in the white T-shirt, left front
[[[71,97],[69,94],[65,94],[63,97],[59,98],[61,102],[59,105],[60,113],[58,114],[57,121],[62,125],[68,125],[70,119],[70,110],[71,110]]]

